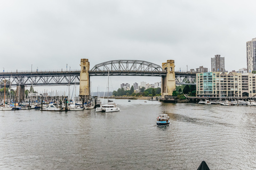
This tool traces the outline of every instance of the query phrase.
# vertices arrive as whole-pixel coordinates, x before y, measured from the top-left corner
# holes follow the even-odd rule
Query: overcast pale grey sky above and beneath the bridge
[[[110,60],[144,60],[175,70],[211,67],[225,57],[228,71],[246,67],[246,41],[256,37],[255,1],[12,1],[0,0],[0,69],[91,68]],[[102,78],[92,78],[99,86]],[[112,78],[154,83],[159,78]],[[105,82],[105,80],[104,80]],[[95,89],[94,89],[95,91]]]

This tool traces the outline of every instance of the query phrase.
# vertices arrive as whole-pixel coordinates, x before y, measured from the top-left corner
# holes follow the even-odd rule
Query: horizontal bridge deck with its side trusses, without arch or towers
[[[6,86],[63,86],[79,84],[80,70],[71,71],[25,71],[25,72],[2,72],[0,73],[0,86],[6,80]],[[89,71],[91,76],[106,76],[108,71]],[[109,71],[110,76],[153,76],[162,77],[165,71]],[[196,73],[175,72],[176,84],[195,84]]]

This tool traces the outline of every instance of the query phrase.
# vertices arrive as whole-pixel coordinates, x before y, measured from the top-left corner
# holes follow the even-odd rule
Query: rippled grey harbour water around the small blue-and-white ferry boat
[[[256,107],[116,100],[121,112],[0,112],[0,169],[256,169]],[[169,126],[157,126],[164,111]]]

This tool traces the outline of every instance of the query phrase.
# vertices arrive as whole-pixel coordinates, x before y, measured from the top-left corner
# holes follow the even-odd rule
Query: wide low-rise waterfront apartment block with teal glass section
[[[253,97],[256,95],[252,73],[208,72],[196,74],[198,97]]]

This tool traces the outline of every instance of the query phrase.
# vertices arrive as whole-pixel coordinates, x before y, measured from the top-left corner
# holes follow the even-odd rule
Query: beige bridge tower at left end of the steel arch
[[[79,85],[79,98],[89,98],[90,97],[90,62],[88,59],[81,59],[81,72],[80,72],[80,85]]]

